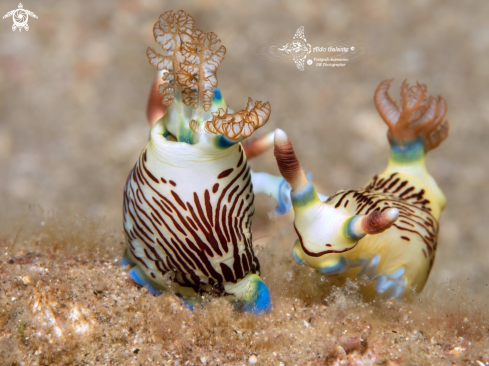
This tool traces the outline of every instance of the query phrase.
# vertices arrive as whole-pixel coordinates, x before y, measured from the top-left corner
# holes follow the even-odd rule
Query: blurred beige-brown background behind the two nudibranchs
[[[18,7],[4,0],[0,13]],[[213,31],[227,48],[218,71],[227,103],[268,100],[272,115],[260,133],[280,127],[322,193],[360,188],[386,166],[386,126],[373,104],[380,81],[427,84],[448,103],[449,138],[428,156],[448,199],[430,281],[489,275],[489,3],[457,0],[326,1],[23,1],[30,30],[0,22],[0,220],[30,207],[83,215],[121,230],[122,190],[145,146],[145,107],[158,46],[152,28],[167,10],[185,10],[195,28]],[[291,39],[339,40],[364,51],[345,67],[307,67],[263,57],[263,45]],[[159,47],[159,46],[158,46]],[[159,49],[159,48],[156,48]],[[261,51],[260,51],[261,50]],[[321,54],[310,56],[322,57]],[[252,161],[278,174],[272,152]],[[280,232],[295,240],[288,216],[257,200],[255,238]],[[22,219],[19,219],[22,220]],[[278,231],[276,230],[278,229]]]

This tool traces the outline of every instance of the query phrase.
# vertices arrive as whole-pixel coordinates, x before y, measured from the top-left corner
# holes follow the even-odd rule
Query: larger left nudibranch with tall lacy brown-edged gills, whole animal
[[[214,33],[194,29],[184,11],[162,14],[153,33],[163,52],[148,48],[147,56],[161,85],[148,102],[150,141],[124,190],[123,264],[154,294],[168,276],[189,307],[211,294],[266,311],[270,296],[251,234],[253,184],[277,198],[279,212],[287,211],[290,188],[282,177],[253,177],[247,162],[246,153],[273,146],[273,133],[246,153],[240,142],[265,125],[270,104],[249,99],[243,110],[228,108],[216,77],[226,48]]]

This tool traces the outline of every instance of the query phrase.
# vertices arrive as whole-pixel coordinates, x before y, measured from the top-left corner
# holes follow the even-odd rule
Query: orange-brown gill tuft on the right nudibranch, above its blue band
[[[421,139],[425,151],[436,148],[448,137],[449,125],[445,120],[446,101],[439,96],[427,97],[425,84],[401,86],[401,106],[390,98],[388,90],[393,79],[384,80],[377,87],[374,102],[377,110],[389,127],[389,139],[398,145]]]

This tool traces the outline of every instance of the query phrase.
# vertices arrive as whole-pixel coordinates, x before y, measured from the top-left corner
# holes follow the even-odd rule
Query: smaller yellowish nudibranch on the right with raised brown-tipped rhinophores
[[[389,129],[389,163],[363,189],[342,190],[323,202],[281,130],[275,157],[292,186],[296,262],[325,274],[366,275],[366,294],[399,298],[421,291],[433,265],[446,199],[425,155],[448,136],[449,126],[442,97],[427,97],[426,85],[404,82],[397,106],[388,94],[391,81],[374,97]]]

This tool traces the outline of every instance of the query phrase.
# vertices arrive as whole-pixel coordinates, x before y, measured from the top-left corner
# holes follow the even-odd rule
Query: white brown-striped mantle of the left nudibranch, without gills
[[[230,292],[223,283],[260,268],[251,243],[254,195],[244,151],[240,144],[212,149],[167,141],[162,130],[159,121],[126,185],[128,255],[157,283],[173,271],[181,286],[196,292],[202,285]]]

